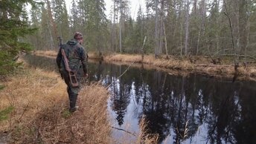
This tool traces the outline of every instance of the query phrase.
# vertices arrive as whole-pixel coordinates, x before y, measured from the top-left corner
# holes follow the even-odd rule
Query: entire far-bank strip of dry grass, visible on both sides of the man
[[[36,50],[33,52],[39,56],[57,56],[57,52],[54,50]],[[97,53],[89,53],[89,59],[103,59],[104,62],[117,63],[118,65],[131,65],[135,67],[155,68],[162,71],[167,71],[172,74],[187,74],[187,73],[202,73],[211,76],[223,76],[236,79],[249,79],[256,81],[256,65],[248,64],[247,66],[240,64],[237,68],[237,72],[234,72],[233,57],[224,56],[222,59],[218,59],[218,64],[212,63],[211,56],[193,56],[189,58],[181,58],[179,56],[161,56],[156,59],[153,55],[139,54],[104,54],[99,56]]]

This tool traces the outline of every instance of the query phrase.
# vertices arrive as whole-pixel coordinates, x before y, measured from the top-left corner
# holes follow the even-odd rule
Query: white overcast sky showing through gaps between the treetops
[[[67,9],[69,11],[71,7],[71,1],[72,0],[65,0],[65,3],[67,4]],[[112,0],[104,0],[106,3],[106,16],[109,18],[109,13],[110,13],[110,7],[113,4]],[[136,19],[137,12],[138,12],[138,7],[141,4],[142,10],[145,11],[145,0],[129,0],[131,3],[129,5],[130,7],[130,12],[131,16],[133,19]]]

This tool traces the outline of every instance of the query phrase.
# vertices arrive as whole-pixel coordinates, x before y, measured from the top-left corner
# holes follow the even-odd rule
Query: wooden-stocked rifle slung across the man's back
[[[65,56],[65,51],[64,51],[64,48],[63,48],[63,39],[60,36],[58,37],[58,39],[60,40],[60,50],[61,50],[61,54],[63,55],[63,61],[64,61],[64,65],[65,65],[65,70],[68,71],[68,76],[69,76],[71,85],[73,87],[77,87],[79,84],[77,82],[76,71],[72,71],[69,68],[68,58],[67,58],[67,56]]]

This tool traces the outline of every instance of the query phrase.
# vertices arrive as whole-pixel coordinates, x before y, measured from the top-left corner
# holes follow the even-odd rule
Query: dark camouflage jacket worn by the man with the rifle
[[[71,39],[66,44],[61,46],[65,51],[65,56],[68,58],[68,65],[72,71],[78,71],[80,65],[83,66],[83,72],[87,73],[87,53],[86,50],[83,48],[82,45],[77,42],[76,39]],[[65,71],[65,65],[63,62],[63,56],[61,54],[61,50],[57,55],[56,59],[58,68],[60,72]]]

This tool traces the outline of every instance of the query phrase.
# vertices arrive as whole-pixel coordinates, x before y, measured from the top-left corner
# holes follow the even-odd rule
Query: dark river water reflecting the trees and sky
[[[57,71],[55,59],[25,59],[33,67]],[[89,62],[89,81],[109,86],[113,127],[138,134],[144,117],[148,133],[159,134],[159,143],[256,143],[256,82],[127,68]],[[115,139],[128,135],[135,140],[115,128]]]

